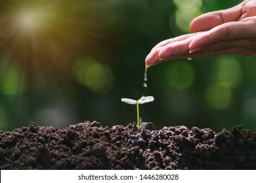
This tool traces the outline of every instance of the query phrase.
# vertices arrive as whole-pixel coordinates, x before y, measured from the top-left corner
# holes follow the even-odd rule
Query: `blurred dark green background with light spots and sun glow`
[[[255,56],[179,59],[148,69],[158,42],[189,33],[223,0],[9,0],[0,3],[0,130],[30,122],[68,127],[85,120],[127,125],[153,95],[143,121],[163,126],[234,125],[256,130]]]

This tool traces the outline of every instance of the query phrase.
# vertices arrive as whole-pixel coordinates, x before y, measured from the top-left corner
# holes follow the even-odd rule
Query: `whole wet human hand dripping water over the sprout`
[[[208,12],[190,23],[192,33],[167,39],[152,48],[147,67],[163,61],[256,53],[256,1],[245,0],[226,10]]]

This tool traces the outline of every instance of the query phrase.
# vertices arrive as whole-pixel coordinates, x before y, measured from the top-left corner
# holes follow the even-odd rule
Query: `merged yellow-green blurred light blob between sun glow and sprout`
[[[114,76],[110,68],[93,58],[80,58],[74,63],[74,77],[79,84],[94,93],[107,93],[113,87]]]

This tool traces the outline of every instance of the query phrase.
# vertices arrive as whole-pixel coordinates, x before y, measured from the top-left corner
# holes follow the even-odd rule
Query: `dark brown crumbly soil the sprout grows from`
[[[256,133],[152,123],[0,131],[0,169],[256,169]]]

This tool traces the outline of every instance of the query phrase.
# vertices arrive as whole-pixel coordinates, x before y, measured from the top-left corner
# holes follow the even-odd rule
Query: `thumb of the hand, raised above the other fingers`
[[[213,27],[226,22],[237,21],[241,16],[242,3],[236,7],[215,12],[208,12],[198,16],[190,23],[190,30],[193,33],[198,31],[209,31]]]

